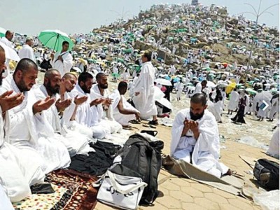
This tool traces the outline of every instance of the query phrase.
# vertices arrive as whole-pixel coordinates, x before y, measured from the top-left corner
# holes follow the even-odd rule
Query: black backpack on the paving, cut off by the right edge
[[[255,179],[268,190],[279,189],[279,164],[267,159],[259,159],[253,169]]]

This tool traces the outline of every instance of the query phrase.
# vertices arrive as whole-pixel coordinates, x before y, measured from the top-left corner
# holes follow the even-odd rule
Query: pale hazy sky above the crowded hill
[[[155,3],[190,3],[191,0],[0,0],[0,27],[18,33],[34,35],[44,29],[60,29],[67,34],[89,32],[94,27],[109,25],[123,14],[132,18],[142,9]],[[258,11],[259,0],[199,0],[203,5],[214,3],[227,6],[230,15],[253,12],[244,3],[251,3]],[[260,11],[279,3],[278,0],[263,0]],[[279,5],[274,6],[259,18],[260,23],[279,28]],[[246,18],[255,20],[251,14]]]

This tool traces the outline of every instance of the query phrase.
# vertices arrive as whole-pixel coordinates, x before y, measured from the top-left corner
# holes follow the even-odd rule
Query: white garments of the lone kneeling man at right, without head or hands
[[[193,132],[188,131],[186,136],[181,137],[184,120],[190,120],[190,109],[183,109],[177,114],[172,127],[172,142],[170,154],[176,159],[187,162],[192,160],[195,167],[205,172],[221,177],[228,172],[228,167],[218,162],[220,158],[220,139],[218,135],[218,125],[214,116],[207,110],[204,116],[197,120],[200,137],[195,141]],[[190,153],[193,155],[190,157]]]

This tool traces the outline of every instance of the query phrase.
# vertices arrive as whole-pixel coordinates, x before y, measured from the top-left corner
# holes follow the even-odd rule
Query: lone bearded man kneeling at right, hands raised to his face
[[[220,139],[215,117],[207,109],[202,93],[190,99],[190,109],[180,111],[172,127],[171,155],[220,178],[230,172],[218,162]]]

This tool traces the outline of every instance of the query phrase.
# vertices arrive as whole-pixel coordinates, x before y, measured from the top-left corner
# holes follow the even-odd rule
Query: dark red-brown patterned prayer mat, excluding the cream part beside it
[[[67,189],[64,199],[59,200],[51,210],[92,210],[97,204],[97,190],[92,187],[92,182],[97,181],[95,176],[59,169],[48,174],[45,181]]]

